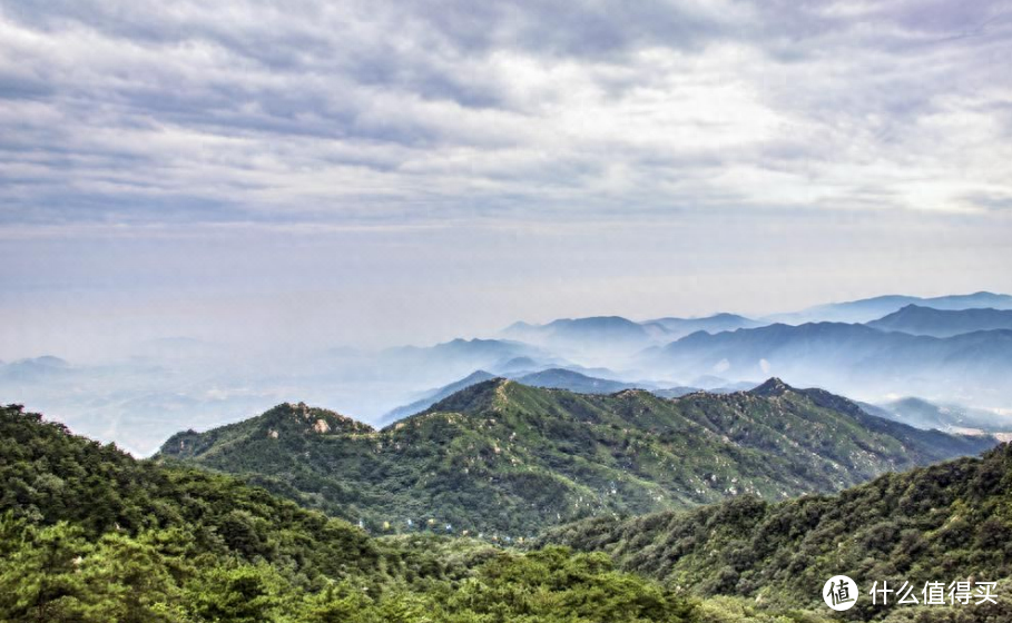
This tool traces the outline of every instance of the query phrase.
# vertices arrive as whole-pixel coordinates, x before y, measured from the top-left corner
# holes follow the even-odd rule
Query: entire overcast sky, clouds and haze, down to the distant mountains
[[[1012,291],[1012,2],[0,0],[0,358]]]

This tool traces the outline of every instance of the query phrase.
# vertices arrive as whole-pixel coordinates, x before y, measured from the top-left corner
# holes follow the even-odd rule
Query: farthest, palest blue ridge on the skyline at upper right
[[[907,305],[918,305],[933,309],[973,309],[984,307],[1012,309],[1012,296],[989,291],[933,298],[887,295],[847,303],[818,305],[802,312],[769,316],[766,320],[795,325],[804,323],[869,323],[897,312]]]

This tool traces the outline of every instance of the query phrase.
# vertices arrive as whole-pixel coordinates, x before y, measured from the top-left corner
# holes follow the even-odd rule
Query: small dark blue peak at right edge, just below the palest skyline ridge
[[[1012,329],[1012,309],[945,310],[907,305],[867,326],[911,335],[951,337],[979,330]]]

